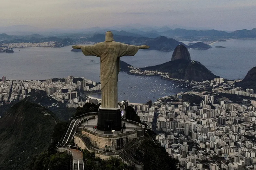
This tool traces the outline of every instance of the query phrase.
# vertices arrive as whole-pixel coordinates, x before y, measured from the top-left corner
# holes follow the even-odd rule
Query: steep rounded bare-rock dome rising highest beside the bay
[[[187,47],[185,47],[182,44],[178,45],[175,48],[175,50],[173,51],[171,61],[174,61],[174,60],[177,60],[177,59],[184,59],[184,60],[191,61],[190,54],[189,54],[189,51],[188,51]]]

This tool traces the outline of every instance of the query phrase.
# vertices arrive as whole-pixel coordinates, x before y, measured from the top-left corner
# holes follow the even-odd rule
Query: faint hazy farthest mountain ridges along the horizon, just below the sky
[[[74,35],[95,35],[104,34],[111,30],[114,35],[157,38],[166,36],[174,39],[200,39],[200,38],[256,38],[256,28],[252,30],[237,31],[218,31],[218,30],[196,30],[193,28],[170,28],[164,27],[143,27],[143,26],[123,26],[110,28],[84,28],[84,29],[42,29],[27,25],[16,25],[0,27],[0,34],[7,33],[10,35],[29,35],[42,34],[47,36],[74,36]],[[23,34],[22,34],[23,32]],[[75,33],[74,33],[75,32]]]

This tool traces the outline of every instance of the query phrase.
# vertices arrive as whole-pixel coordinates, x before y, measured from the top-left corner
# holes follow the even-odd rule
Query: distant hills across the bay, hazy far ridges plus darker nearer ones
[[[102,42],[105,40],[105,32],[108,29],[95,28],[93,30],[86,30],[83,33],[67,33],[58,34],[54,36],[43,36],[40,34],[32,34],[25,36],[0,34],[1,43],[20,43],[20,42],[48,42],[55,41],[56,47],[63,47],[67,45],[83,44],[87,41]],[[178,40],[199,40],[199,41],[212,41],[212,40],[226,40],[231,38],[256,38],[256,28],[252,30],[238,30],[234,32],[225,32],[217,30],[185,30],[185,29],[170,29],[164,27],[162,29],[150,30],[145,28],[146,31],[138,30],[135,28],[129,31],[111,30],[114,34],[114,40],[117,42],[127,43],[131,45],[149,45],[149,50],[159,51],[172,51],[177,45],[184,45],[187,48],[205,50],[211,48],[202,42],[194,43],[192,45],[185,45]],[[161,32],[162,31],[162,32]],[[173,39],[174,38],[174,39]]]

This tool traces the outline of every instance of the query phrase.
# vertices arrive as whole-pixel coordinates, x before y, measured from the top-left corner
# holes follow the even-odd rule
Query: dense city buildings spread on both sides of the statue
[[[163,73],[158,73],[163,75]],[[168,79],[167,75],[163,78]],[[235,83],[215,78],[212,81],[180,81],[191,89],[165,96],[147,104],[129,103],[140,120],[157,132],[156,140],[166,152],[179,161],[181,169],[242,170],[256,165],[256,94],[242,90]],[[81,92],[100,92],[101,84],[86,78],[68,76],[43,81],[7,80],[0,82],[1,104],[22,100],[32,89],[66,107],[83,107],[101,100],[81,97]],[[52,106],[49,106],[52,107]]]

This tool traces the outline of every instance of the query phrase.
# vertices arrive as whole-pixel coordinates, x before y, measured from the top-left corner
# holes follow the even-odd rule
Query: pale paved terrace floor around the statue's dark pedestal
[[[84,128],[87,128],[88,130],[90,131],[93,131],[93,127],[94,126],[97,126],[97,123],[98,123],[98,116],[95,116],[95,119],[89,119],[88,120],[88,123],[86,121],[86,118],[89,118],[89,117],[92,117],[92,115],[89,115],[89,116],[86,116],[86,117],[83,117],[84,119],[84,122],[81,122],[80,126],[79,127],[84,127]],[[132,124],[132,123],[129,123],[127,121],[122,121],[122,126],[123,124],[125,123],[125,129],[123,129],[124,133],[125,132],[128,132],[128,131],[134,131],[134,128],[136,128],[136,130],[142,130],[142,127],[140,127],[139,125],[135,125],[135,124]],[[98,133],[98,134],[105,134],[105,135],[117,135],[117,134],[121,134],[121,131],[114,131],[114,132],[111,132],[111,131],[100,131],[100,130],[94,130],[94,132]]]

